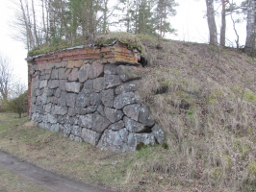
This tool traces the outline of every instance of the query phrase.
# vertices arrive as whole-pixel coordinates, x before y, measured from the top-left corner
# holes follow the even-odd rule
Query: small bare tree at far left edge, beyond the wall
[[[10,65],[10,60],[0,54],[0,99],[3,101],[8,99],[12,71],[13,69]]]

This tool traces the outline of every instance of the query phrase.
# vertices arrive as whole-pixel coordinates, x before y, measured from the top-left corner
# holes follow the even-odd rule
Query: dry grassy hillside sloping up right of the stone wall
[[[171,40],[161,49],[147,44],[147,53],[141,95],[168,134],[168,151],[141,166],[170,175],[170,183],[255,191],[256,60]]]

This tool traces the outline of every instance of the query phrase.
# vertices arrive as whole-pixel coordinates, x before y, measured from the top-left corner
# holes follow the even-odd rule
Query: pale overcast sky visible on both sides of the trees
[[[238,4],[242,0],[235,0]],[[170,23],[177,30],[177,36],[166,36],[171,39],[208,42],[208,25],[205,18],[205,0],[176,0],[179,6],[176,8],[177,14],[170,18]],[[10,0],[0,0],[0,53],[11,60],[13,65],[13,79],[27,84],[27,50],[22,42],[12,37],[13,29],[9,26],[13,19],[14,12],[10,8]],[[220,29],[219,17],[217,17],[218,31]],[[246,24],[243,22],[238,25],[241,45],[245,43]],[[227,44],[236,38],[230,17],[227,16]],[[234,44],[233,44],[234,46]]]

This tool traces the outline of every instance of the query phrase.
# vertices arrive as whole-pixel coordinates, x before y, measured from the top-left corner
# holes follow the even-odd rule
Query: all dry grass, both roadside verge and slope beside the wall
[[[30,123],[0,126],[0,149],[123,190],[255,191],[256,60],[204,44],[143,43],[151,65],[141,96],[167,134],[167,150],[115,155]]]

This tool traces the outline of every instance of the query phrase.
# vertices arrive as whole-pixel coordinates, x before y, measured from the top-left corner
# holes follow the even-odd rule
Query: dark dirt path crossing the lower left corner
[[[89,184],[65,178],[1,151],[0,167],[12,171],[13,174],[17,174],[25,180],[38,183],[38,185],[53,192],[111,192],[109,189],[99,189]]]

